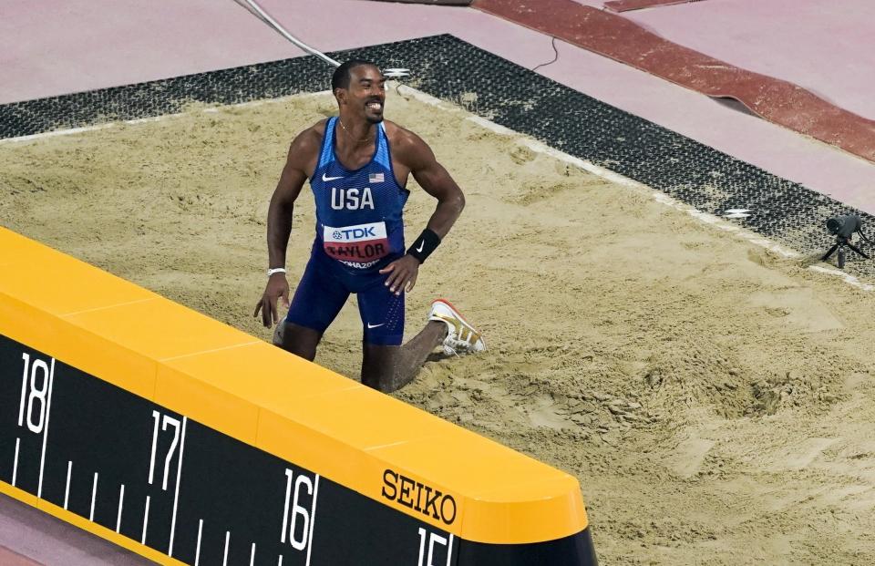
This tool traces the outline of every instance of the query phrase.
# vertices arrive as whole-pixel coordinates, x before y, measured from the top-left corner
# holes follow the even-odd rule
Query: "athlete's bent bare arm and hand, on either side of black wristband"
[[[386,123],[386,134],[392,145],[396,175],[407,179],[407,174],[412,174],[419,186],[438,200],[427,228],[443,240],[465,208],[465,195],[419,136],[391,122]],[[386,285],[393,293],[409,292],[417,283],[419,261],[408,253],[386,265],[380,273],[389,273]]]

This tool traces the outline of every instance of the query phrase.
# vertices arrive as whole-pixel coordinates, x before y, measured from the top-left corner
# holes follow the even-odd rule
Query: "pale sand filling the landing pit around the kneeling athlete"
[[[0,144],[0,219],[264,339],[267,203],[327,96]],[[875,294],[393,92],[468,208],[407,298],[484,355],[397,396],[576,475],[603,564],[875,562]],[[415,183],[408,234],[433,201]],[[295,209],[296,283],[313,201]],[[58,285],[65,282],[59,281]],[[348,304],[317,361],[357,378]],[[499,473],[499,470],[497,470]]]

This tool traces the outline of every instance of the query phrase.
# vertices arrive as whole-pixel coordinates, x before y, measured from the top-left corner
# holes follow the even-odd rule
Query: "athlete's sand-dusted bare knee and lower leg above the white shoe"
[[[406,386],[447,337],[447,324],[431,321],[406,345],[363,346],[362,383],[384,393]]]

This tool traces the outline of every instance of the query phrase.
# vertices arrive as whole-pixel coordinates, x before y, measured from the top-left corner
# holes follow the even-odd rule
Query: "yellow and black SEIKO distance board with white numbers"
[[[0,490],[165,563],[595,562],[570,475],[2,228]]]

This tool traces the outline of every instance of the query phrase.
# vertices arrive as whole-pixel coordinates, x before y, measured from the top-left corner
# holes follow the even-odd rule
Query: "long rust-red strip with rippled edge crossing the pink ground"
[[[735,98],[761,118],[875,161],[875,120],[793,83],[679,46],[623,16],[572,0],[475,0],[473,7],[709,97]]]

